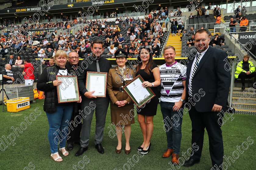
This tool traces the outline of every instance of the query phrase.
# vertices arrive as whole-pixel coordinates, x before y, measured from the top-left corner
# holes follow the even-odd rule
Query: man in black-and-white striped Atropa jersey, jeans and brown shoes
[[[176,52],[173,46],[164,48],[166,63],[159,67],[161,80],[160,105],[167,138],[167,149],[162,157],[168,158],[172,155],[172,162],[179,164],[187,68],[175,61],[175,55]]]

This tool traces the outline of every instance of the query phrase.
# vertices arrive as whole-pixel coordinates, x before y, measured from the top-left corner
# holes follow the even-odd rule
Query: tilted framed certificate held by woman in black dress
[[[138,75],[123,87],[125,93],[131,98],[131,100],[133,100],[138,108],[155,97],[154,92],[149,87],[142,87],[141,84],[143,82],[143,78]]]

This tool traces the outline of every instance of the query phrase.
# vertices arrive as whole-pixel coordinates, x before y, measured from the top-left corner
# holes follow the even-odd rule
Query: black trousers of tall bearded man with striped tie
[[[203,106],[202,106],[203,107]],[[192,123],[192,149],[194,154],[192,159],[201,158],[203,143],[204,143],[204,128],[206,128],[209,138],[209,151],[212,159],[212,166],[215,164],[219,165],[223,162],[224,149],[222,141],[222,131],[221,125],[222,118],[220,118],[218,113],[221,112],[198,112],[195,107],[191,104],[191,109],[189,110],[189,116]],[[223,117],[223,114],[221,115]],[[219,123],[218,123],[219,121]],[[195,143],[195,144],[194,144]],[[197,145],[197,147],[193,147]]]

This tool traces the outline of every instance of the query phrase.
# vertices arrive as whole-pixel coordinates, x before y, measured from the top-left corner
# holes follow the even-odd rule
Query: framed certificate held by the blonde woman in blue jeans
[[[62,83],[57,86],[59,103],[80,101],[76,76],[56,76]]]

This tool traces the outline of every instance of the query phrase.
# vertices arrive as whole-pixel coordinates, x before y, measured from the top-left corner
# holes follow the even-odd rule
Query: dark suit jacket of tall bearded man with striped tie
[[[192,63],[196,55],[187,59],[186,99],[188,101],[188,82]],[[209,46],[201,59],[192,79],[192,95],[195,109],[199,112],[210,112],[214,104],[226,106],[229,94],[231,74],[225,70],[227,53]],[[198,95],[195,95],[198,94]]]

